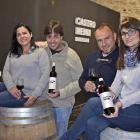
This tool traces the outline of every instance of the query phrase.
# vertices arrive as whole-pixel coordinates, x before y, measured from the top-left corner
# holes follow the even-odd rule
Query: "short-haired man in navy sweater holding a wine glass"
[[[101,74],[107,86],[111,86],[117,69],[116,62],[119,56],[119,48],[116,43],[116,33],[111,25],[107,23],[100,24],[95,28],[95,38],[99,50],[88,55],[84,71],[79,78],[79,86],[82,90],[88,93],[88,99],[97,97],[94,89],[99,85],[99,81],[90,81],[89,69],[96,68],[98,74]]]

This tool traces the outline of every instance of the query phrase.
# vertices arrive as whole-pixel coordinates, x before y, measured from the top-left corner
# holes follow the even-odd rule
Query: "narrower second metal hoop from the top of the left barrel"
[[[49,116],[46,117],[41,117],[41,118],[34,118],[34,119],[27,119],[27,120],[0,120],[0,124],[33,124],[33,123],[39,123],[39,122],[43,122],[46,120],[50,120],[52,119],[53,113]]]

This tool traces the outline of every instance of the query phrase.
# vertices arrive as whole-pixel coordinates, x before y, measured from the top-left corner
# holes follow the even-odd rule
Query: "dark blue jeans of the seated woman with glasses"
[[[100,98],[89,99],[74,125],[59,140],[76,140],[84,131],[84,140],[100,140],[100,133],[107,127],[140,132],[140,105],[120,108],[117,118],[108,119],[102,114],[103,107]]]

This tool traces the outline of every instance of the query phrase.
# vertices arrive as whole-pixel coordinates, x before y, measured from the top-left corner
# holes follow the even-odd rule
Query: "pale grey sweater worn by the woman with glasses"
[[[140,104],[140,64],[118,70],[111,89],[119,96],[123,107]]]

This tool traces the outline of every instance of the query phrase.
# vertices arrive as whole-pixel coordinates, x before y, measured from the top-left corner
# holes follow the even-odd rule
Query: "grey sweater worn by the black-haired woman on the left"
[[[24,79],[26,95],[39,97],[49,82],[50,62],[46,51],[37,48],[20,57],[7,56],[3,69],[3,81],[8,90],[16,85],[18,78]]]

